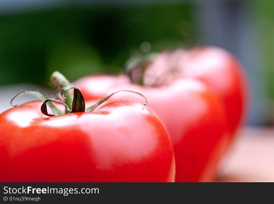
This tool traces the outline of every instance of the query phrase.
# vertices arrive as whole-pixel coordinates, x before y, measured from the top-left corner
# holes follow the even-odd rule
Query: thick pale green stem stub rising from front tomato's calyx
[[[52,84],[56,85],[60,91],[62,90],[62,88],[70,85],[68,79],[66,79],[64,75],[62,75],[59,71],[54,71],[52,73],[52,75],[50,76],[50,81]],[[69,109],[72,109],[73,95],[71,91],[66,90],[63,96],[65,103],[69,106]],[[66,113],[69,113],[67,109],[65,109],[65,111]]]

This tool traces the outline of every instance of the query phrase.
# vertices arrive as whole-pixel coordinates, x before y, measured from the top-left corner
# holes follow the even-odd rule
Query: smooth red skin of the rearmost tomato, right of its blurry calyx
[[[203,81],[224,103],[229,139],[243,120],[247,107],[248,85],[237,59],[218,47],[178,49],[170,53],[169,63],[180,70],[181,77]]]

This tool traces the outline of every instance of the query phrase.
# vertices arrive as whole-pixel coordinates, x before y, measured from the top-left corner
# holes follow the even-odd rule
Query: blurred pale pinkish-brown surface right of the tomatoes
[[[238,134],[216,181],[274,182],[274,128],[245,128]]]

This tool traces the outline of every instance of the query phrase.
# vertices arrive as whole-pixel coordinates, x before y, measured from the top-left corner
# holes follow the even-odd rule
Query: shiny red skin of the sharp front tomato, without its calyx
[[[110,101],[54,117],[41,104],[0,114],[0,182],[174,182],[171,140],[142,104]]]

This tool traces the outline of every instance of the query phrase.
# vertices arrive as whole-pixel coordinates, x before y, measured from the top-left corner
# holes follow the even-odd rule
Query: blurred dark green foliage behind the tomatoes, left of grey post
[[[168,18],[167,18],[168,16]],[[186,3],[65,6],[0,16],[0,85],[46,84],[59,70],[71,81],[121,70],[148,41],[153,51],[194,38]]]

